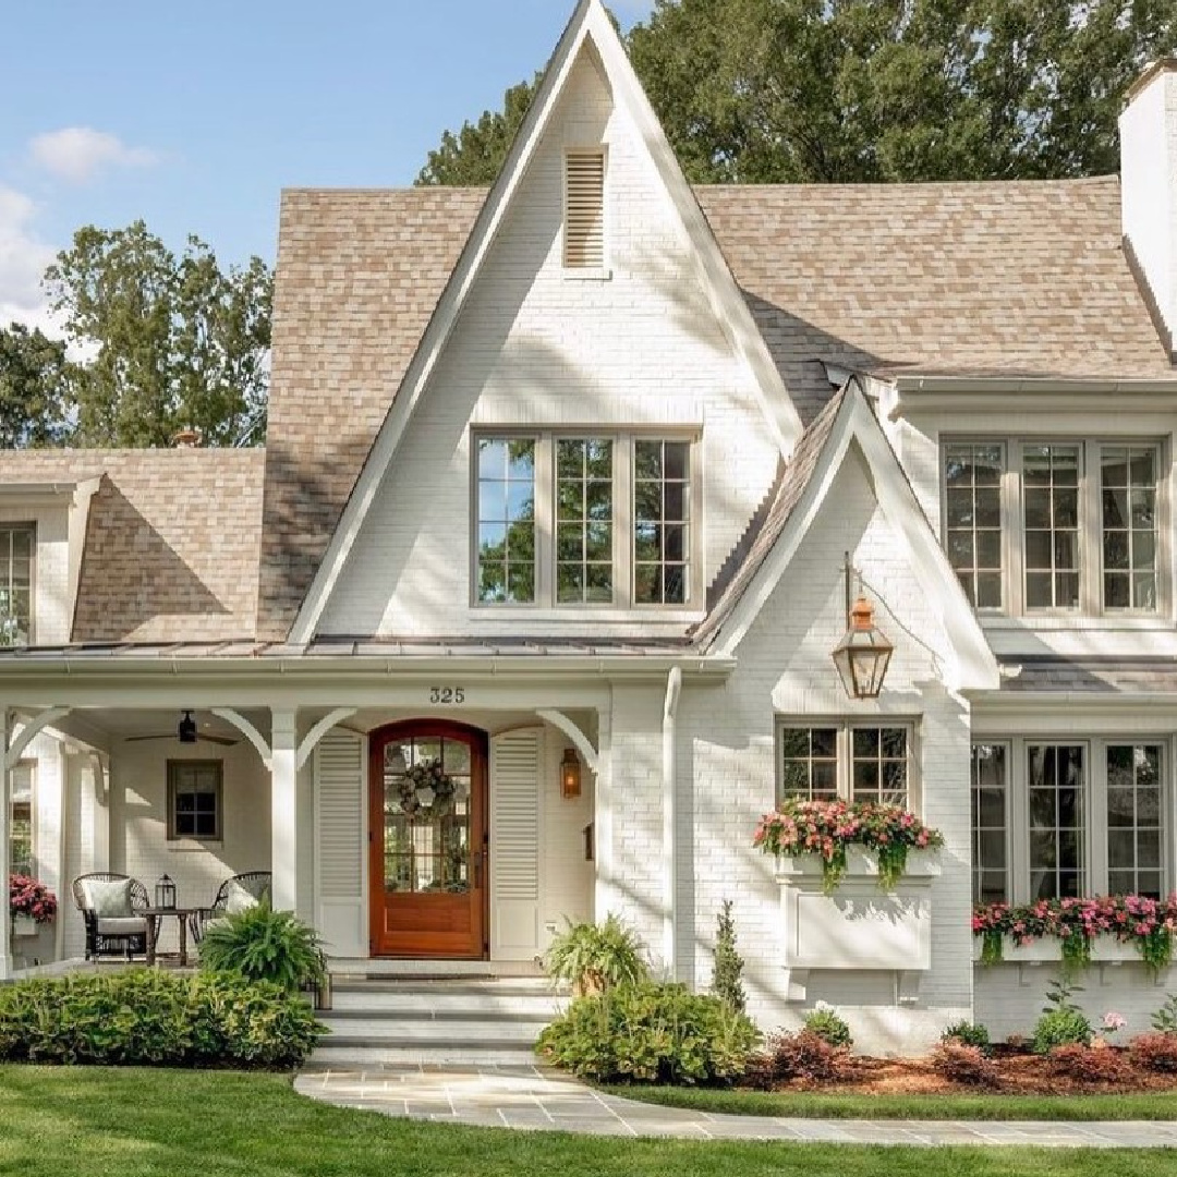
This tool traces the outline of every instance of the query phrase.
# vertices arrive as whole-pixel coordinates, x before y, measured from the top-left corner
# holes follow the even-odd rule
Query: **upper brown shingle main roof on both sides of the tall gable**
[[[1141,378],[1172,367],[1115,177],[697,189],[804,420],[849,368]],[[287,192],[259,636],[286,636],[484,189]]]

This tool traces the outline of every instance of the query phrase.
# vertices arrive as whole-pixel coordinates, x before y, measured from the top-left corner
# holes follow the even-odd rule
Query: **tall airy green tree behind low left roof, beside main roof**
[[[273,279],[259,258],[222,270],[197,237],[177,255],[142,221],[86,226],[45,282],[89,357],[73,380],[77,444],[262,440]]]

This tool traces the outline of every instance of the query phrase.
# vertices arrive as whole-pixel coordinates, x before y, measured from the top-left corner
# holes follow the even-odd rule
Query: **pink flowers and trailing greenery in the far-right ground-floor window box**
[[[1135,944],[1152,970],[1172,959],[1177,930],[1177,896],[1146,899],[1139,895],[1109,895],[1092,899],[1039,899],[1022,907],[991,903],[976,907],[972,933],[982,937],[983,964],[1002,959],[1002,937],[1030,944],[1053,936],[1063,944],[1063,966],[1080,969],[1091,963],[1091,944],[1097,936],[1115,936]]]

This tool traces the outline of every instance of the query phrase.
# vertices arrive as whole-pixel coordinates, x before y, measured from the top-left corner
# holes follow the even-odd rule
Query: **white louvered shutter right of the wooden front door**
[[[539,789],[543,731],[491,740],[491,937],[499,959],[539,950]]]

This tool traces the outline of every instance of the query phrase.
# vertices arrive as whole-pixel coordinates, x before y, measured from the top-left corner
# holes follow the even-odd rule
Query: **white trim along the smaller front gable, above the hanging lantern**
[[[956,691],[996,691],[999,686],[997,659],[857,379],[846,386],[830,437],[784,532],[731,617],[720,626],[717,652],[734,657],[792,563],[842,468],[851,441],[857,443],[870,468],[879,507],[911,554],[912,571],[929,597],[940,603],[944,631],[955,654],[946,667],[945,685]]]

